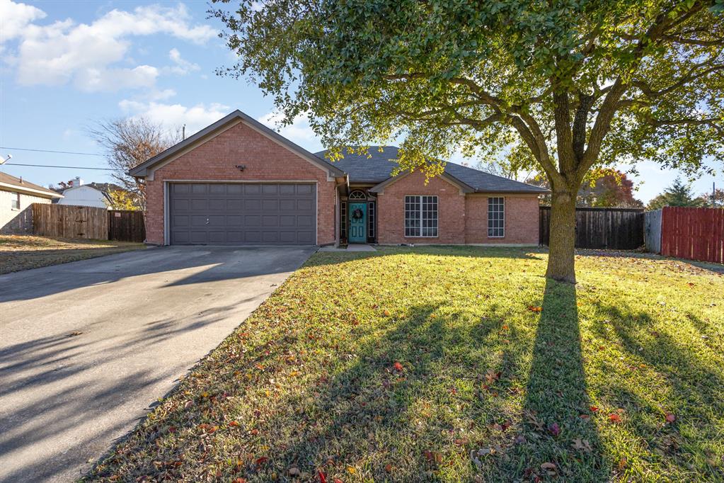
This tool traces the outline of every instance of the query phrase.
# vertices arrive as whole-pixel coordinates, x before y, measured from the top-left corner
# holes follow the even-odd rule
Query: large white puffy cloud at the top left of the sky
[[[4,9],[12,9],[12,12],[22,5],[9,0],[0,1]],[[137,7],[132,12],[112,10],[90,25],[76,24],[71,19],[50,25],[36,25],[30,23],[31,20],[37,20],[45,14],[35,7],[23,7],[24,13],[15,14],[21,23],[25,22],[22,31],[14,28],[9,34],[19,39],[17,54],[7,56],[6,59],[15,67],[17,81],[23,85],[62,85],[73,82],[83,91],[148,88],[155,84],[159,75],[156,67],[113,67],[118,62],[132,62],[127,56],[131,46],[130,38],[165,34],[193,43],[203,43],[216,35],[209,25],[191,25],[190,14],[182,4],[175,8],[159,5]],[[28,8],[34,10],[28,11]],[[177,62],[176,67],[193,70],[195,64],[181,59],[180,55],[177,59],[185,64]]]

